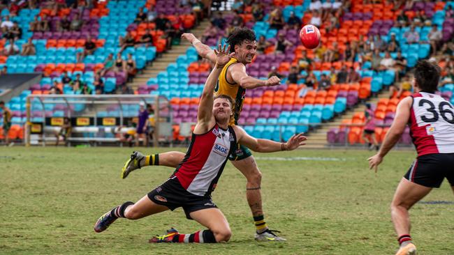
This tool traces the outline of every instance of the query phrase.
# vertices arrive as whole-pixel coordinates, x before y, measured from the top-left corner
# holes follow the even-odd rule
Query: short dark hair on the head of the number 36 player
[[[440,79],[441,68],[436,64],[427,60],[421,60],[416,63],[414,75],[416,84],[421,91],[434,93],[437,91],[438,82]]]

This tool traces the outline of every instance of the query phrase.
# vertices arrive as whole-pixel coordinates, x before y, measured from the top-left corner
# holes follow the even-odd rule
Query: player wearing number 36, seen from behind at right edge
[[[377,169],[383,157],[399,141],[409,125],[418,157],[402,178],[391,203],[391,217],[400,249],[396,255],[416,254],[410,236],[409,209],[434,187],[448,179],[454,191],[454,107],[435,94],[440,68],[419,61],[413,80],[413,95],[397,105],[396,115],[379,153],[369,158],[369,167]]]

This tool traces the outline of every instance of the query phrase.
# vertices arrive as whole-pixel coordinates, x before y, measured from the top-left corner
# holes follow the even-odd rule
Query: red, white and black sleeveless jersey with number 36
[[[432,93],[411,95],[410,135],[418,156],[454,153],[454,108],[450,102]]]

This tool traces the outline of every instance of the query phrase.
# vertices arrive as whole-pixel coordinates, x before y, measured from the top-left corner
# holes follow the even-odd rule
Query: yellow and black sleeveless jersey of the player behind
[[[214,88],[214,96],[217,95],[230,95],[235,102],[233,105],[233,119],[230,119],[229,125],[237,125],[238,119],[240,118],[240,112],[243,107],[244,95],[246,90],[240,86],[240,84],[227,81],[227,70],[230,65],[238,63],[237,59],[230,59],[228,63],[222,68],[221,74],[217,80],[216,87]]]

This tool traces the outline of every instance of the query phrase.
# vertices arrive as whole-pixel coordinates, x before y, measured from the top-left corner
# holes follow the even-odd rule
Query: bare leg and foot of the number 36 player
[[[400,180],[393,202],[391,202],[391,217],[400,245],[396,255],[416,254],[416,247],[413,245],[410,235],[409,209],[416,202],[423,199],[425,195],[429,194],[431,190],[432,187],[412,183],[406,178]]]

